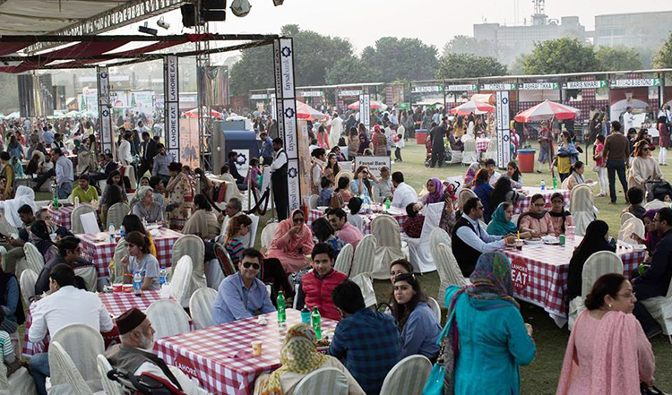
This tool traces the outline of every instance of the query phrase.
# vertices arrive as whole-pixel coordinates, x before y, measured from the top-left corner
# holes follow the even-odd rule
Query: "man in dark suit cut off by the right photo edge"
[[[656,296],[667,296],[670,279],[672,279],[672,209],[666,207],[658,210],[653,219],[656,230],[662,235],[653,253],[651,265],[641,276],[633,279],[633,291],[637,297],[634,304],[634,315],[648,338],[659,334],[662,329],[641,302]]]

